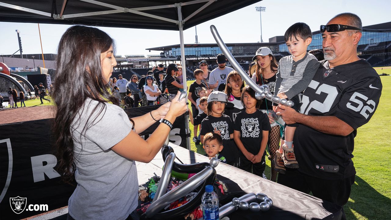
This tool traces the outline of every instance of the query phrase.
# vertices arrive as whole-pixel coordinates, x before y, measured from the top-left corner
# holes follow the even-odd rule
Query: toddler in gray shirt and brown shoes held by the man
[[[292,55],[283,57],[278,64],[274,95],[293,101],[293,108],[299,112],[301,93],[310,84],[319,68],[319,62],[314,55],[307,52],[312,41],[312,32],[307,24],[295,23],[285,32],[284,38]],[[274,112],[276,108],[274,105]],[[285,166],[299,168],[293,152],[293,135],[297,126],[296,123],[287,124],[284,144],[276,151],[273,163],[274,169],[279,173],[285,173]]]

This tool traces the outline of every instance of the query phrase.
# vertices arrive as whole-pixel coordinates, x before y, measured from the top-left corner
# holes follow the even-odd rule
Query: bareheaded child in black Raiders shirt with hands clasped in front
[[[261,100],[255,98],[255,91],[244,87],[242,103],[245,110],[237,114],[233,139],[240,150],[239,168],[266,179],[265,149],[269,138],[269,117],[259,110]]]

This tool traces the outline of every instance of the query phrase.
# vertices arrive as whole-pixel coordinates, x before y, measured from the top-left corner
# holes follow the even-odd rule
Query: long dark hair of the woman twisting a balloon
[[[99,113],[106,111],[108,101],[118,105],[118,100],[109,93],[107,79],[102,76],[101,53],[109,50],[111,45],[115,47],[113,39],[105,32],[75,25],[66,30],[58,46],[56,84],[52,95],[57,106],[53,131],[59,158],[57,171],[68,183],[75,173],[71,126],[78,122],[74,119],[84,101],[87,98],[98,101],[93,112]],[[96,120],[90,119],[83,127],[84,133]]]

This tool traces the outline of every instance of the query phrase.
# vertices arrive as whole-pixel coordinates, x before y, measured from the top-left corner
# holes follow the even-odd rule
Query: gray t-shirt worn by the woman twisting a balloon
[[[135,161],[111,147],[129,134],[132,123],[119,106],[98,103],[86,99],[72,124],[77,187],[68,200],[68,212],[76,220],[123,220],[138,205],[137,170]]]

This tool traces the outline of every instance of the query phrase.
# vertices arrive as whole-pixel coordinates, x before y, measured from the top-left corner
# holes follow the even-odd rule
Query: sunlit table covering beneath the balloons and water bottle
[[[185,148],[170,144],[176,156],[185,164],[209,162],[207,157]],[[176,162],[179,162],[176,160]],[[139,185],[145,184],[156,173],[161,176],[164,161],[161,153],[148,164],[136,162]],[[321,200],[300,191],[263,179],[246,171],[227,164],[219,163],[215,168],[222,175],[237,183],[246,193],[264,193],[273,200],[273,207],[267,212],[252,212],[237,210],[228,217],[230,219],[341,219],[342,207]]]

